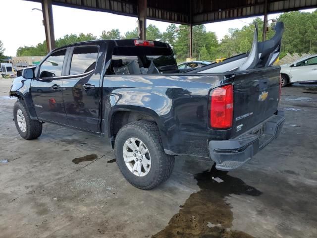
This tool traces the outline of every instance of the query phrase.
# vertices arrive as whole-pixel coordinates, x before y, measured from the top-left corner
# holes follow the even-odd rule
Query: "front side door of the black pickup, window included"
[[[66,49],[53,52],[38,69],[31,83],[34,108],[39,119],[66,124],[63,102],[63,65]]]

